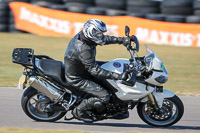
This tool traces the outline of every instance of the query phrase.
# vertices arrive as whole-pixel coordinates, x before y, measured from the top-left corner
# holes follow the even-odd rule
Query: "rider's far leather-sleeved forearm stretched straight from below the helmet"
[[[115,36],[109,36],[109,35],[105,35],[104,36],[104,41],[105,44],[122,44],[124,40],[124,37],[115,37]]]

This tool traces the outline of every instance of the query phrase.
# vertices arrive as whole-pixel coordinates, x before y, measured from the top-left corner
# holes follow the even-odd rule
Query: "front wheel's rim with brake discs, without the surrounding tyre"
[[[159,114],[156,114],[153,109],[151,110],[149,108],[151,107],[146,103],[143,106],[142,114],[144,118],[153,125],[162,126],[171,124],[176,120],[179,114],[177,105],[169,99],[164,99],[161,113]]]

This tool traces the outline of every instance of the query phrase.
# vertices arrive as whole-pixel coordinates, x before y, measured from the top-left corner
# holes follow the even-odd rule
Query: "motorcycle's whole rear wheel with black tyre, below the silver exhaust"
[[[25,90],[22,99],[21,106],[25,114],[33,120],[53,122],[61,119],[66,112],[43,112],[40,107],[48,104],[50,100],[38,92],[33,87],[29,87]]]

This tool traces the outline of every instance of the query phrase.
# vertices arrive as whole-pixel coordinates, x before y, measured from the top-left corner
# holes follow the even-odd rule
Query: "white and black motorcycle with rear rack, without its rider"
[[[138,57],[139,42],[136,36],[129,36],[130,29],[125,27],[125,35],[133,41],[127,41],[126,48],[131,59],[115,59],[109,62],[97,61],[103,69],[116,73],[129,73],[126,81],[95,79],[106,88],[110,101],[104,110],[92,109],[87,113],[96,118],[125,119],[121,115],[137,107],[139,117],[149,125],[167,127],[177,123],[184,113],[182,101],[173,92],[163,89],[168,80],[165,65],[155,52],[146,46],[146,55]],[[65,79],[64,64],[46,55],[34,55],[30,48],[15,48],[12,54],[13,63],[24,67],[18,87],[26,89],[21,99],[25,114],[33,120],[53,122],[76,108],[80,102],[91,97],[76,90]],[[28,86],[28,87],[26,87]]]

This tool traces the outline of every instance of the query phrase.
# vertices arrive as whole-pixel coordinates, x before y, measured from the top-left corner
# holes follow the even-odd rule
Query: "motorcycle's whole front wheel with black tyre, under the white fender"
[[[178,122],[184,113],[182,101],[176,95],[165,98],[160,111],[155,111],[148,101],[140,103],[137,107],[140,118],[149,125],[155,127],[167,127]]]

